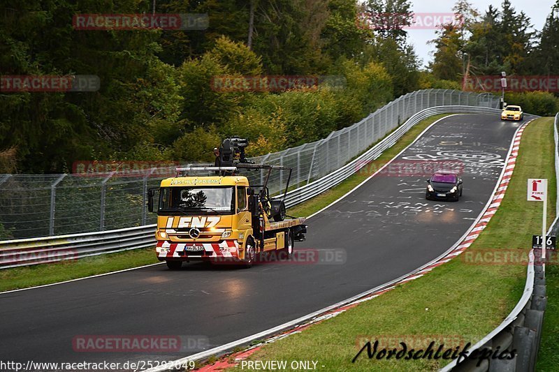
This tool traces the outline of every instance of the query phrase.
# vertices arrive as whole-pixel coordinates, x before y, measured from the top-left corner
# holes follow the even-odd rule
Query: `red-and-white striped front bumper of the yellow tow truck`
[[[239,258],[239,244],[235,239],[222,240],[218,243],[173,243],[159,240],[155,251],[160,261],[220,261]]]

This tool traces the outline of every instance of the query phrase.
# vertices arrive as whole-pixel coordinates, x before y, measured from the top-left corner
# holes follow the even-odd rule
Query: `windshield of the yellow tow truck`
[[[235,207],[235,188],[165,187],[161,188],[159,211],[181,214],[231,214]]]

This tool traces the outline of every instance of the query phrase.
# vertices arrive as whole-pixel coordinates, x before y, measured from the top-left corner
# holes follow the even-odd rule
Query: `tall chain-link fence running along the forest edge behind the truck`
[[[499,106],[491,94],[427,89],[406,94],[365,119],[324,140],[252,158],[256,163],[293,168],[291,187],[303,186],[337,170],[378,142],[416,112],[428,107]],[[96,232],[156,222],[147,212],[147,188],[173,177],[174,168],[120,174],[0,174],[0,239]],[[266,171],[249,172],[251,184],[263,184]],[[289,171],[270,174],[274,195],[285,187]]]

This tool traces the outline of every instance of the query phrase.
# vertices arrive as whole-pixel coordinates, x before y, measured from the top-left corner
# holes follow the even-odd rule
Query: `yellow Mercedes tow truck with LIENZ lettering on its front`
[[[293,242],[305,240],[305,218],[285,219],[291,168],[249,163],[244,154],[247,144],[238,137],[224,140],[219,166],[177,168],[177,177],[148,191],[148,209],[154,211],[159,190],[156,252],[169,269],[196,260],[251,267],[262,254],[288,259]],[[251,170],[267,172],[262,185],[250,185],[240,174]],[[269,195],[267,184],[274,170],[289,170],[281,198]],[[206,174],[192,175],[197,172]]]

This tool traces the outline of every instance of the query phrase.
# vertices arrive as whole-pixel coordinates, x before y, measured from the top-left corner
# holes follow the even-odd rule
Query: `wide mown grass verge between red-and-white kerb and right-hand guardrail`
[[[351,361],[365,340],[412,339],[414,343],[408,343],[409,348],[426,348],[430,341],[436,341],[437,348],[449,341],[447,348],[454,348],[460,343],[477,342],[502,322],[521,297],[525,265],[503,265],[502,261],[491,260],[479,263],[467,257],[489,248],[503,253],[528,252],[532,234],[541,230],[542,213],[541,204],[526,201],[528,178],[547,178],[549,190],[556,188],[552,119],[538,119],[524,131],[507,194],[488,227],[467,251],[470,256],[463,253],[422,278],[398,285],[305,332],[266,345],[249,360],[314,360],[322,371],[433,371],[444,366],[447,362],[441,360],[368,359],[367,352],[356,362]],[[549,193],[550,222],[555,215],[555,202],[555,193]],[[549,283],[554,280],[559,281],[557,274],[549,278]],[[546,317],[555,319],[557,312],[546,313]],[[557,324],[548,322],[544,332],[557,331]],[[546,345],[553,359],[542,361],[545,365],[557,366],[557,342],[554,339]],[[395,341],[391,345],[397,344]]]

